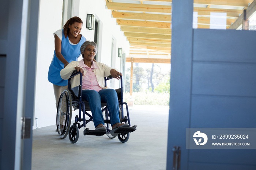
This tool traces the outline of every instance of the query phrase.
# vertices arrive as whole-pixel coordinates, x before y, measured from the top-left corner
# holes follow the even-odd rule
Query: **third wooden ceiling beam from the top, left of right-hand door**
[[[151,21],[125,20],[125,19],[117,19],[116,22],[120,26],[169,28],[169,29],[171,28],[171,23],[167,23],[167,22],[151,22]]]

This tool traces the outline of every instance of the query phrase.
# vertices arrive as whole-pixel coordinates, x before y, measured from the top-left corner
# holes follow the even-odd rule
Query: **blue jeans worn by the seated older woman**
[[[102,89],[99,92],[95,90],[82,90],[82,100],[89,102],[95,127],[99,124],[104,124],[104,118],[101,112],[101,101],[107,104],[110,124],[114,125],[120,122],[116,90]]]

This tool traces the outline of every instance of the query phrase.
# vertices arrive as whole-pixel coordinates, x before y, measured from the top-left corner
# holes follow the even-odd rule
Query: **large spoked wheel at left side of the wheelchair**
[[[68,135],[72,117],[72,98],[68,89],[65,89],[59,98],[57,107],[56,125],[61,139]]]

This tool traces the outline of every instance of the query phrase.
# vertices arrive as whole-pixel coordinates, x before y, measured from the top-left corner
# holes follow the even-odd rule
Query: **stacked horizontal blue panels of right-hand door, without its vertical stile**
[[[194,30],[190,128],[256,127],[255,32],[225,31]],[[192,149],[188,162],[196,170],[255,169],[255,156],[249,149]]]

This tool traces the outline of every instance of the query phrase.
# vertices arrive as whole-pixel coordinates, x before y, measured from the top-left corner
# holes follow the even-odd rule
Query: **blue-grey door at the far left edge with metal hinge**
[[[31,169],[39,0],[5,0],[0,169]],[[2,40],[0,38],[0,40]],[[6,38],[6,39],[5,39]],[[1,41],[2,42],[2,41]],[[0,50],[0,51],[1,51]],[[2,51],[1,51],[2,52]],[[4,70],[2,70],[4,69]],[[1,100],[2,101],[2,100]],[[22,131],[26,121],[25,131]],[[23,135],[23,132],[25,132]]]

